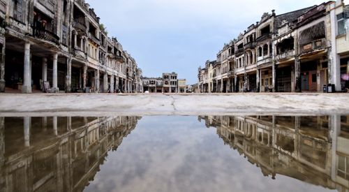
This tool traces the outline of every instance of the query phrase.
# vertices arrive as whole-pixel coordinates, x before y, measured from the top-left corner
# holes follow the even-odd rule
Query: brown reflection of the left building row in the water
[[[0,191],[83,191],[140,117],[0,117]]]

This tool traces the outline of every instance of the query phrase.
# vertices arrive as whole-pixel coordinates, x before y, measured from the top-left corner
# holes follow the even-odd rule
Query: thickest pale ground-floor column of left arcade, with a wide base
[[[24,47],[24,75],[22,93],[31,94],[30,43],[25,43]]]

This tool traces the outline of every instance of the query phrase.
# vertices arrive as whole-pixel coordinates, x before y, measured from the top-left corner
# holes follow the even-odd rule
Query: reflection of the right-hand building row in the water
[[[349,191],[349,116],[199,116],[266,177]]]

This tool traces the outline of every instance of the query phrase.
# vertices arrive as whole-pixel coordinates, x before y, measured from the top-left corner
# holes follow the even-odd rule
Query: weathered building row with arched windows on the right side
[[[328,84],[348,90],[348,7],[328,1],[264,13],[199,68],[200,92],[320,92]]]

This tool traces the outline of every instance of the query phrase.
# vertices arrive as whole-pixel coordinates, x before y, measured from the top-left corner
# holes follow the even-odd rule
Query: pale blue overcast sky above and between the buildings
[[[349,0],[346,0],[348,3]],[[177,72],[198,82],[198,67],[216,59],[224,43],[236,38],[263,13],[276,14],[323,0],[87,0],[109,36],[135,58],[143,76]]]

